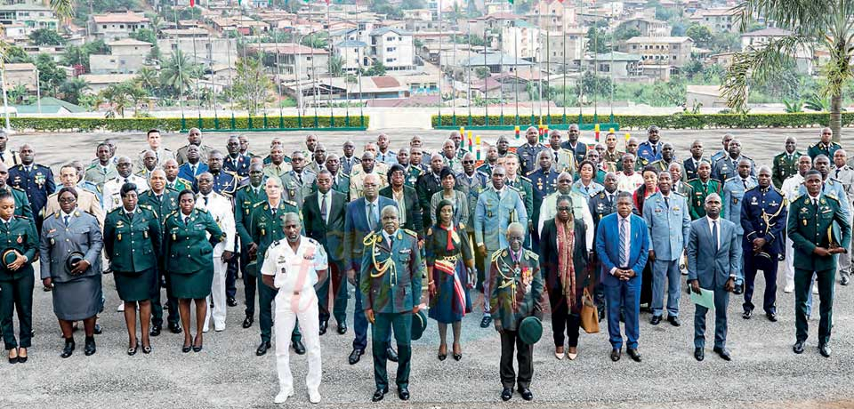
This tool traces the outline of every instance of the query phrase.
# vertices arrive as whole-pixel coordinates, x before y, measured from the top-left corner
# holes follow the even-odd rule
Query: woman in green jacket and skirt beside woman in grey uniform
[[[160,250],[160,223],[157,214],[137,205],[136,185],[125,183],[119,194],[122,205],[107,214],[104,221],[104,249],[116,279],[118,298],[125,301],[127,355],[136,355],[136,306],[140,306],[142,353],[151,352],[151,294],[157,285],[157,259]]]

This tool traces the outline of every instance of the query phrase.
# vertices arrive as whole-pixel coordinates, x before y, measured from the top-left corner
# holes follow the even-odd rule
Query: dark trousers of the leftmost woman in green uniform
[[[25,266],[28,268],[29,266]],[[2,273],[5,274],[5,273]],[[29,348],[33,337],[33,270],[17,280],[0,281],[0,329],[6,350]],[[15,340],[15,310],[18,310],[18,340]]]

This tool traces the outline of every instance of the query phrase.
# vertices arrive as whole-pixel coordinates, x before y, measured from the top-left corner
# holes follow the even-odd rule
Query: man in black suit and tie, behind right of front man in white
[[[329,322],[329,286],[334,294],[333,314],[338,323],[338,333],[347,332],[347,280],[342,280],[342,240],[344,237],[344,210],[347,196],[332,189],[332,173],[326,169],[318,173],[318,191],[305,196],[302,216],[305,234],[323,245],[329,258],[329,278],[318,289],[320,335],[326,333]]]

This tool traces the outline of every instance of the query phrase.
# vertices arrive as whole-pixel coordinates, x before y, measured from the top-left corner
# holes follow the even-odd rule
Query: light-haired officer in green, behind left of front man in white
[[[282,229],[281,220],[285,213],[301,214],[299,208],[294,202],[288,202],[282,197],[282,181],[278,178],[267,178],[264,184],[264,192],[267,194],[267,200],[257,203],[253,206],[249,234],[252,235],[250,242],[250,255],[252,255],[252,244],[254,243],[254,256],[257,265],[264,265],[264,254],[267,248],[277,240],[285,237],[285,232]],[[301,216],[302,217],[302,216]],[[270,338],[273,328],[273,299],[276,297],[276,291],[262,282],[262,275],[258,275],[256,286],[258,289],[258,321],[261,326],[261,344],[255,350],[255,355],[261,357],[270,349]],[[302,334],[297,328],[294,328],[294,333],[291,334],[291,344],[297,354],[305,353],[305,346],[302,345]]]

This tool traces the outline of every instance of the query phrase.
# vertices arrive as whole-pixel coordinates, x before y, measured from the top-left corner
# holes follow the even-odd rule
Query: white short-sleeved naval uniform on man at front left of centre
[[[297,319],[305,342],[309,372],[305,384],[309,394],[318,395],[320,387],[320,335],[318,333],[318,296],[314,285],[318,271],[327,269],[323,246],[309,237],[300,237],[296,253],[285,239],[274,242],[267,249],[261,273],[275,276],[276,294],[276,365],[281,392],[294,390],[289,349],[291,333]]]

